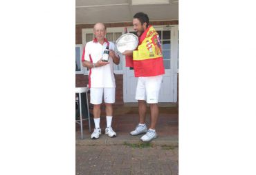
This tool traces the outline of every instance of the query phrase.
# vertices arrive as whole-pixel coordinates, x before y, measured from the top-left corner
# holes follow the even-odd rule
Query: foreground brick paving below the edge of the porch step
[[[77,145],[75,174],[177,175],[178,154],[178,147]]]

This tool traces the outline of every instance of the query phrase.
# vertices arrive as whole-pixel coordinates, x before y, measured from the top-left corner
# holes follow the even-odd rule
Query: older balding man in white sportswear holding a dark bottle
[[[92,139],[100,137],[100,105],[102,96],[106,105],[107,127],[105,134],[115,137],[116,132],[111,127],[113,118],[112,103],[115,103],[116,83],[113,75],[113,63],[118,65],[120,58],[114,51],[115,45],[107,41],[105,35],[107,29],[103,23],[96,23],[93,28],[95,39],[86,43],[82,54],[82,65],[89,68],[90,103],[93,104],[93,118],[95,129],[91,134]],[[102,61],[104,50],[109,47],[109,61]]]

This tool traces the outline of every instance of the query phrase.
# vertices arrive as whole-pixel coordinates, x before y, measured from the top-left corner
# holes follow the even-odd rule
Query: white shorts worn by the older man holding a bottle
[[[115,103],[116,88],[91,88],[90,103],[93,105],[101,104],[103,95],[105,103]]]

